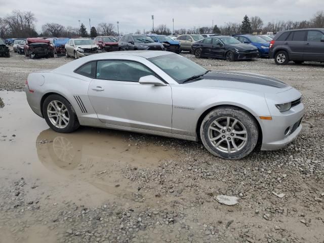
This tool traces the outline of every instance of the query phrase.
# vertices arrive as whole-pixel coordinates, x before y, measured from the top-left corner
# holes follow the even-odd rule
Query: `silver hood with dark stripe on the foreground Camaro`
[[[242,89],[260,93],[280,93],[292,88],[284,82],[265,75],[231,71],[210,71],[201,79],[188,85]]]

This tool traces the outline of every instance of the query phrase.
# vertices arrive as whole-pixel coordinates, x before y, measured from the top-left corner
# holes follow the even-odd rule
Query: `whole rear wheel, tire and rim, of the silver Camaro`
[[[45,99],[43,116],[50,128],[59,133],[70,133],[80,126],[72,105],[60,95]]]

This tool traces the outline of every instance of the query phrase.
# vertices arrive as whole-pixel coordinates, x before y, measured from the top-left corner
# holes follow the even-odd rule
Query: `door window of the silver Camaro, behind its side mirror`
[[[98,79],[138,82],[141,77],[147,75],[155,74],[146,66],[137,62],[123,60],[97,62],[96,77]]]

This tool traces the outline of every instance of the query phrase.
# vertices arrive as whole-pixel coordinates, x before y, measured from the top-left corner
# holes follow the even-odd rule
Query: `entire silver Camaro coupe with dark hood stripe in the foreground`
[[[31,109],[56,132],[80,125],[201,140],[227,159],[290,143],[301,94],[263,75],[209,71],[165,51],[102,53],[28,75]]]

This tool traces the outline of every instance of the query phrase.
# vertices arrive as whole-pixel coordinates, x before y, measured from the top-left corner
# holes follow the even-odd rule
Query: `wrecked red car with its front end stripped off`
[[[27,38],[25,44],[25,56],[29,58],[50,57],[50,41],[44,38]]]

